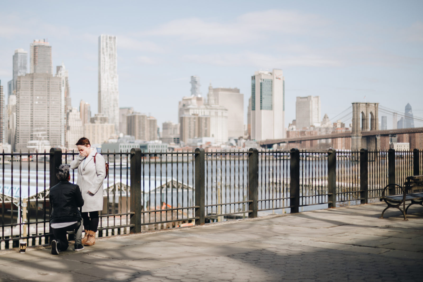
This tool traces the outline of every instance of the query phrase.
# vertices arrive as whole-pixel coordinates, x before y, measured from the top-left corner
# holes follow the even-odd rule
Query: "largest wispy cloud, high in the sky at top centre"
[[[313,34],[313,30],[328,24],[328,20],[315,14],[268,10],[243,14],[226,23],[199,18],[176,19],[140,35],[177,37],[198,44],[239,44],[264,39],[271,33]]]

